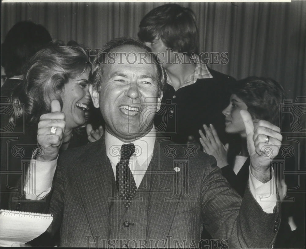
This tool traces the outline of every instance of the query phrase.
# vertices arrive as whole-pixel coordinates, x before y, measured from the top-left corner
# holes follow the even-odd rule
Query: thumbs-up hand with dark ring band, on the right
[[[240,114],[245,125],[252,175],[266,183],[270,180],[271,159],[277,156],[282,145],[280,128],[266,120],[259,120],[254,127],[248,111],[241,110]]]

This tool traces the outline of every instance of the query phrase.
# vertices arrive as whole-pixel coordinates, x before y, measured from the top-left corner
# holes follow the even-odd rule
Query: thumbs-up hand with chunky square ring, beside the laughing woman
[[[37,129],[37,144],[42,148],[39,161],[52,161],[58,156],[65,132],[65,114],[58,100],[51,101],[51,112],[40,116]]]

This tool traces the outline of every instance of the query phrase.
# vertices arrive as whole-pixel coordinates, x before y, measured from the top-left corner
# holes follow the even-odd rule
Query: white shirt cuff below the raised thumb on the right
[[[249,170],[249,187],[252,195],[261,206],[264,212],[273,213],[273,209],[276,206],[277,194],[276,194],[276,184],[274,178],[273,168],[271,174],[273,175],[271,180],[267,183],[262,183],[257,180]]]

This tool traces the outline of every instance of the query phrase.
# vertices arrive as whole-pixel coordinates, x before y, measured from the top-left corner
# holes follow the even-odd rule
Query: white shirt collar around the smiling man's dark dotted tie
[[[135,145],[135,153],[132,155],[132,157],[137,159],[140,166],[143,165],[148,158],[151,158],[155,138],[155,126],[153,125],[153,128],[145,136],[132,141],[132,143]],[[114,165],[118,164],[120,160],[121,146],[125,143],[126,142],[121,141],[119,138],[116,138],[114,135],[105,131],[106,156]]]

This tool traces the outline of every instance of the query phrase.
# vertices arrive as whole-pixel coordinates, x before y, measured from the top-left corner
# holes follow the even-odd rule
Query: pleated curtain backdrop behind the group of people
[[[1,39],[18,21],[45,26],[53,39],[100,48],[115,37],[137,37],[144,15],[165,2],[2,3]],[[199,51],[228,52],[211,68],[236,79],[279,81],[290,99],[305,96],[306,1],[291,3],[181,2],[196,14]]]

